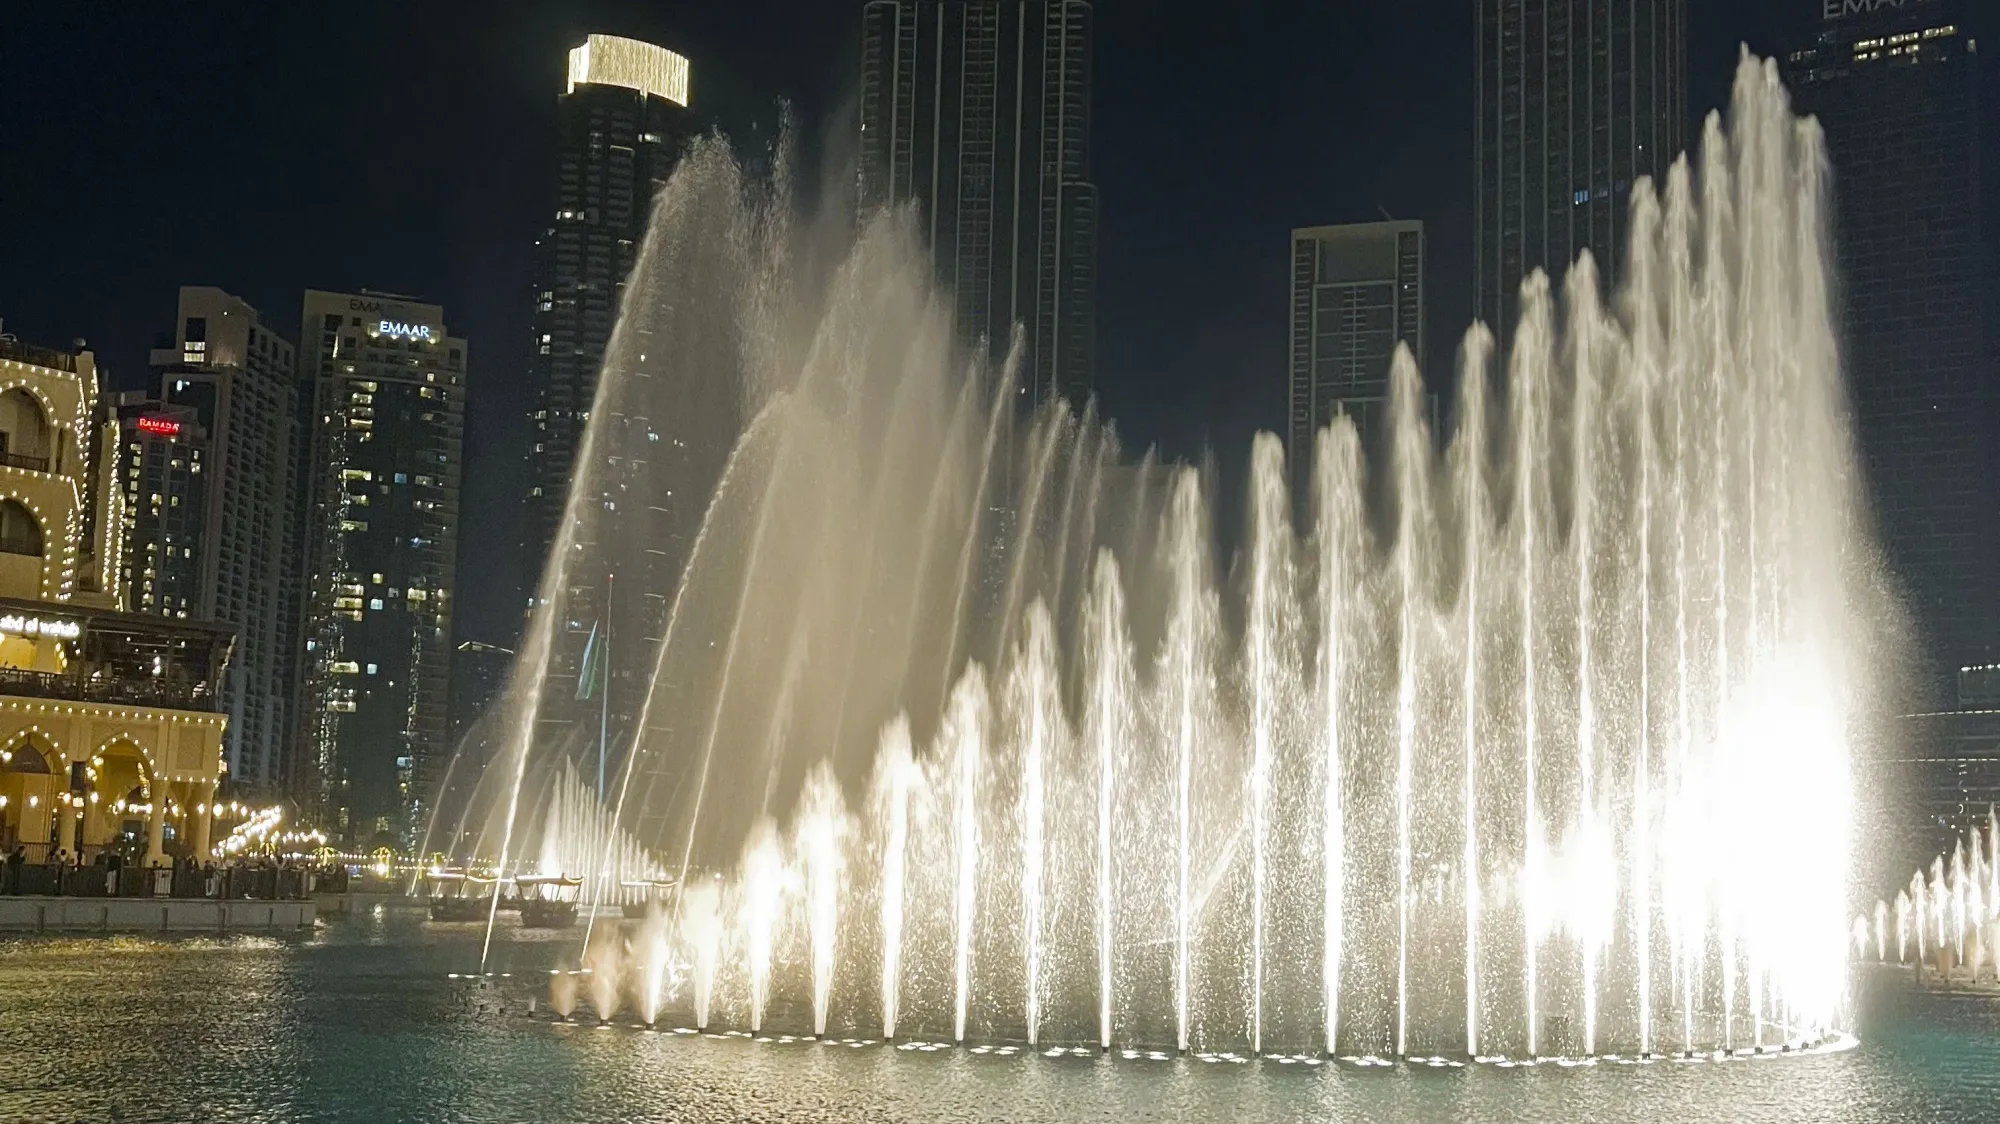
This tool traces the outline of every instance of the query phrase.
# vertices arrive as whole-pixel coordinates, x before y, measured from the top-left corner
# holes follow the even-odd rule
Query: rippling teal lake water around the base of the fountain
[[[478,1014],[474,926],[0,940],[0,1122],[2000,1120],[2000,1000],[1880,986],[1814,1058],[1534,1070],[764,1044]],[[504,928],[500,970],[578,934]]]

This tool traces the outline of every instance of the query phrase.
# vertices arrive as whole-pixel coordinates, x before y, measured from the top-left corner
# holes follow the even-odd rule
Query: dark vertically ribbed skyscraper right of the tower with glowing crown
[[[1028,398],[1090,396],[1098,190],[1086,0],[870,0],[860,204],[916,204],[960,344],[1024,328]]]

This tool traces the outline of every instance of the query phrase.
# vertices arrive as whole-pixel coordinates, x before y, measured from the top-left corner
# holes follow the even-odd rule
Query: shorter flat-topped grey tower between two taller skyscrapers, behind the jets
[[[1346,414],[1374,440],[1388,406],[1388,364],[1396,344],[1408,344],[1422,366],[1424,224],[1294,230],[1286,462],[1292,494],[1300,500],[1310,494],[1312,444],[1320,428]]]

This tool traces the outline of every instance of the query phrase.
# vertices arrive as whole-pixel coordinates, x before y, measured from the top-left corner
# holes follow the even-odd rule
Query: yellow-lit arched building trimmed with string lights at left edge
[[[124,612],[120,432],[90,352],[0,338],[0,850],[206,858],[230,630]]]

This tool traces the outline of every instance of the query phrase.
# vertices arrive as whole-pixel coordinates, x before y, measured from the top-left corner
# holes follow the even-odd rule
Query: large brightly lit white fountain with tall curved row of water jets
[[[710,142],[664,190],[482,782],[518,862],[570,574],[654,598],[602,832],[684,890],[588,952],[646,1022],[1370,1060],[1842,1024],[1868,552],[1772,68],[1634,188],[1614,300],[1584,260],[1504,364],[1468,332],[1448,434],[1398,354],[1382,434],[1294,450],[1310,494],[1258,438],[1234,556],[1212,476],[954,358],[912,216],[828,234],[784,184]]]

